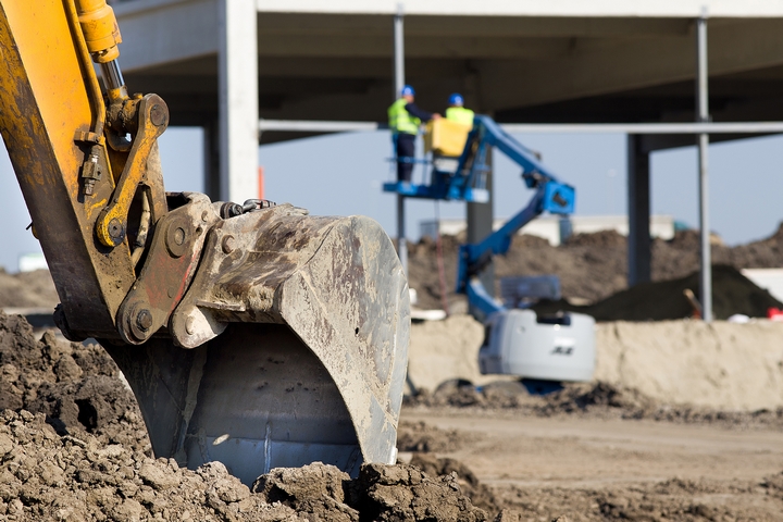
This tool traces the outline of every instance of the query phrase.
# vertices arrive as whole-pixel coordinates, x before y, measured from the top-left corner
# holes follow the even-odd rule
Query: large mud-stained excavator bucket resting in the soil
[[[408,284],[374,221],[291,206],[222,220],[170,336],[104,341],[157,457],[217,460],[246,484],[313,461],[393,463]]]

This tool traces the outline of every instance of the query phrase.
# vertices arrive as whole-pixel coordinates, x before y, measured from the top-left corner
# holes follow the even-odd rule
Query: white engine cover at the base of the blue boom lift
[[[563,324],[548,324],[539,323],[532,310],[494,313],[484,324],[481,373],[589,381],[595,370],[595,320],[582,313],[562,319]]]

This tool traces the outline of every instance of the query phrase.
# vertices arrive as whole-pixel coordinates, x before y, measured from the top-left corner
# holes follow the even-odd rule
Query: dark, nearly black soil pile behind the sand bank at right
[[[532,308],[539,314],[559,311],[586,313],[596,321],[666,321],[694,316],[694,307],[685,290],[698,296],[701,291],[699,272],[678,279],[643,283],[621,290],[592,306],[574,306],[562,299],[544,301]],[[756,286],[735,268],[712,266],[712,313],[714,319],[729,319],[735,313],[766,318],[770,308],[781,308],[778,299]]]

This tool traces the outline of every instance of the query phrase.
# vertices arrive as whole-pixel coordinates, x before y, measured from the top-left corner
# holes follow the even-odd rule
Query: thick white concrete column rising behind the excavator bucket
[[[220,198],[258,196],[256,0],[219,0]]]

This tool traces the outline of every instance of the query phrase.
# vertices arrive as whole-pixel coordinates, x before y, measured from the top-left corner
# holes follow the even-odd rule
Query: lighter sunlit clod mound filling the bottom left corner
[[[60,436],[42,413],[0,414],[0,462],[8,520],[302,520],[251,496],[220,463],[181,470],[89,434]]]

